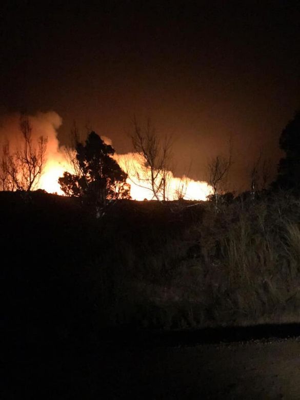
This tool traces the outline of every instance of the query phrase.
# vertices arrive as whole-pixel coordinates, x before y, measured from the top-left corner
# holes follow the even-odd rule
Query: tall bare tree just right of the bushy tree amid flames
[[[153,198],[158,201],[168,199],[168,183],[170,180],[171,137],[161,139],[150,119],[144,128],[133,119],[132,146],[136,154],[135,164],[127,166],[127,174],[131,181],[140,187],[149,189]]]

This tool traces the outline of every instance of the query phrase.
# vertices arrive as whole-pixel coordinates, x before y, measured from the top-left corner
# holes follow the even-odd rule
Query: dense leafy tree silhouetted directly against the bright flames
[[[116,198],[130,198],[127,174],[113,159],[114,152],[95,132],[88,135],[85,144],[77,142],[75,173],[65,172],[58,179],[62,191],[68,196],[85,197],[100,207]]]

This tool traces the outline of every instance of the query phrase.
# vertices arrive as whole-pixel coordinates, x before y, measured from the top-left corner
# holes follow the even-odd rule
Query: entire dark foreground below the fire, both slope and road
[[[298,326],[178,331],[299,322],[298,200],[242,220],[237,203],[127,202],[98,220],[71,198],[0,194],[1,399],[300,398]],[[241,237],[236,269],[224,251]]]

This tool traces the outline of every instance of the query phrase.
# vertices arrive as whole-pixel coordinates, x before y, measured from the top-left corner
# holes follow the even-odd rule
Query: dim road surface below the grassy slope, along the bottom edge
[[[31,343],[10,358],[2,398],[299,399],[298,332],[296,325],[131,331],[93,346]]]

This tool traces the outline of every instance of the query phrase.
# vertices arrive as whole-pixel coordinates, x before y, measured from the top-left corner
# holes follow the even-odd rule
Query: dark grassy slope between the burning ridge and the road
[[[0,200],[16,324],[21,313],[59,340],[96,340],[108,326],[299,322],[300,202],[286,192],[237,198],[218,213],[213,203],[176,212],[176,203],[124,200],[102,219],[76,198]]]

